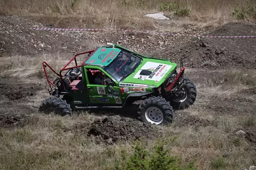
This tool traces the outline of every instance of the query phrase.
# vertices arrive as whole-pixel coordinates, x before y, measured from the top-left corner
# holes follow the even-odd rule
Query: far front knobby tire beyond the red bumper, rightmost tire
[[[185,90],[186,96],[170,101],[173,108],[177,110],[186,109],[196,101],[196,85],[188,78],[185,78],[185,80],[186,83],[183,89]]]

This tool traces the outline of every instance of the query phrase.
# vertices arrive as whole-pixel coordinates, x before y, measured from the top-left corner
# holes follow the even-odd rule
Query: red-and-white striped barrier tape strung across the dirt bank
[[[103,28],[103,29],[90,29],[90,28],[41,28],[41,27],[0,27],[0,28],[21,28],[21,29],[30,29],[30,30],[38,30],[38,31],[105,31],[105,30],[117,30],[117,31],[127,31],[127,32],[134,32],[134,33],[154,33],[160,35],[186,35],[181,33],[162,33],[162,32],[155,32],[155,31],[134,31],[134,30],[124,30],[118,28]],[[256,38],[256,35],[248,35],[248,36],[213,36],[213,35],[186,35],[186,36],[193,36],[193,37],[202,37],[202,38]]]

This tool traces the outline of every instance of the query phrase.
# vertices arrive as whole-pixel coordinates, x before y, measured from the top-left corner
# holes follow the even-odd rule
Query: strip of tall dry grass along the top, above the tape
[[[42,24],[60,28],[124,28],[139,30],[172,30],[174,27],[194,25],[197,27],[219,26],[236,20],[232,12],[243,0],[189,0],[188,17],[174,17],[167,25],[145,18],[143,15],[160,11],[160,6],[171,2],[178,9],[186,8],[186,0],[2,0],[0,11],[7,15],[32,18]],[[177,8],[177,7],[176,7]],[[172,15],[175,9],[164,11]],[[253,20],[246,16],[245,19]]]

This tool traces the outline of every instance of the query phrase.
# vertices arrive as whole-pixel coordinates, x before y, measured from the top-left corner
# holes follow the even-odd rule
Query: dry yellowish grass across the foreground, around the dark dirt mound
[[[121,163],[121,150],[132,153],[134,143],[121,142],[107,146],[75,131],[64,132],[77,121],[92,122],[93,115],[74,118],[54,115],[31,115],[21,129],[0,129],[0,169],[94,169],[113,168]],[[184,163],[196,160],[200,170],[241,170],[252,165],[256,157],[252,145],[232,135],[237,118],[220,117],[218,126],[162,127],[160,140],[169,155]],[[143,140],[152,152],[157,140]],[[250,156],[248,156],[250,155]]]

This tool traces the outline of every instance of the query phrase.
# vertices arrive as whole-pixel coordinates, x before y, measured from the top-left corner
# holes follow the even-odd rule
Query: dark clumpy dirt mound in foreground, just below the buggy
[[[152,138],[161,135],[157,127],[132,118],[109,116],[95,120],[92,124],[78,124],[72,127],[88,136],[95,136],[107,144],[141,137]],[[67,129],[64,129],[67,131]]]

